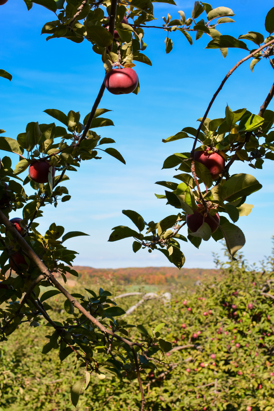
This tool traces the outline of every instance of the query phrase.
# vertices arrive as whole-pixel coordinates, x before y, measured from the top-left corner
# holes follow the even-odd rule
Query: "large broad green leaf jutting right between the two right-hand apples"
[[[235,201],[260,190],[262,185],[253,175],[239,173],[232,175],[222,187],[223,200]]]

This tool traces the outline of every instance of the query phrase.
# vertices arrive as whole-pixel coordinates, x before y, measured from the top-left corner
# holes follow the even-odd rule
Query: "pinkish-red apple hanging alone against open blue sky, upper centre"
[[[124,69],[112,69],[105,76],[106,89],[112,94],[129,94],[138,85],[138,76],[130,67]]]

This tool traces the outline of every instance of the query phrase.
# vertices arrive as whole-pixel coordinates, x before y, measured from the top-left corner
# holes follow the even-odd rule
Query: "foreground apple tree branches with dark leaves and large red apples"
[[[77,171],[81,162],[100,159],[100,155],[108,154],[124,163],[124,158],[115,148],[104,148],[105,144],[111,145],[115,141],[101,138],[94,129],[113,124],[110,119],[102,117],[109,110],[98,108],[105,89],[115,95],[129,92],[138,94],[139,82],[133,69],[134,61],[152,65],[142,53],[146,48],[146,28],[160,28],[166,32],[166,53],[172,50],[171,37],[175,37],[176,31],[182,33],[183,41],[190,44],[193,42],[193,33],[196,40],[205,34],[210,37],[208,49],[219,48],[223,57],[226,57],[228,48],[241,48],[245,56],[223,79],[200,118],[198,129],[186,126],[175,136],[163,141],[167,143],[193,138],[190,153],[175,153],[163,163],[163,168],[177,167],[182,172],[175,176],[180,183],[157,182],[168,189],[159,198],[166,198],[168,204],[177,209],[176,214],[163,218],[159,223],[151,221],[147,224],[137,212],[123,210],[138,231],[125,226],[115,227],[109,241],[133,237],[134,252],[141,247],[147,248],[149,252],[158,249],[170,262],[181,268],[184,254],[180,249],[180,240],[189,240],[199,247],[202,240],[206,241],[212,236],[214,240],[224,238],[228,251],[235,258],[237,250],[244,245],[244,233],[234,223],[240,216],[249,214],[252,205],[245,203],[246,197],[262,186],[249,174],[230,176],[229,168],[238,160],[247,162],[252,168],[262,168],[265,159],[274,159],[274,132],[270,131],[274,112],[267,110],[274,86],[258,115],[247,109],[233,111],[228,106],[224,109],[223,118],[210,120],[207,115],[223,84],[240,64],[252,59],[253,70],[260,60],[269,60],[274,66],[271,60],[274,8],[266,16],[265,35],[249,32],[236,39],[221,35],[216,30],[217,25],[234,21],[231,18],[234,16],[233,11],[227,7],[213,9],[210,4],[198,1],[194,3],[191,16],[186,17],[183,11],[179,11],[178,18],[172,19],[168,14],[163,18],[162,26],[150,24],[154,20],[153,3],[156,1],[24,1],[29,10],[32,3],[37,3],[53,12],[54,20],[46,22],[41,30],[42,34],[47,35],[47,40],[64,37],[76,43],[91,43],[94,53],[101,55],[102,83],[90,113],[83,116],[82,122],[79,112],[71,110],[66,115],[59,109],[46,109],[45,113],[54,121],[57,120],[57,125],[55,122],[29,122],[17,139],[0,137],[0,149],[7,152],[2,157],[0,168],[1,339],[5,341],[16,332],[22,321],[29,321],[30,326],[37,327],[41,317],[44,317],[51,332],[48,332],[49,342],[42,352],[58,349],[61,361],[74,354],[76,369],[84,368],[83,379],[71,390],[71,401],[75,406],[80,392],[89,386],[91,373],[95,373],[99,379],[105,378],[101,371],[104,367],[106,372],[113,373],[120,380],[137,379],[140,409],[143,410],[145,397],[142,375],[145,367],[142,366],[140,372],[140,359],[144,357],[152,362],[161,362],[164,354],[170,351],[170,342],[161,338],[163,324],[149,333],[142,332],[143,325],[138,326],[140,337],[133,340],[128,336],[128,329],[135,325],[117,318],[124,314],[124,310],[111,300],[109,291],[100,289],[99,293],[95,293],[85,289],[83,293],[70,294],[56,279],[57,273],[62,275],[64,282],[66,273],[78,275],[72,268],[76,252],[67,249],[64,242],[86,234],[81,231],[64,233],[64,228],[55,223],[41,234],[37,218],[42,217],[43,207],[57,207],[58,202],[69,201],[65,182],[69,179],[70,171]],[[175,4],[173,0],[164,2]],[[255,44],[255,48],[249,50],[250,46],[243,40],[251,42],[252,47]],[[180,41],[178,36],[176,41]],[[1,70],[0,75],[11,79],[4,70]],[[1,134],[4,132],[1,130]],[[14,169],[8,155],[10,152],[19,156]],[[21,173],[26,170],[28,174],[25,173],[27,175],[21,178]],[[34,194],[25,192],[28,185]],[[9,220],[9,213],[19,209],[22,209],[22,217],[18,215]],[[225,213],[232,222],[219,213]],[[187,237],[179,233],[185,225],[188,227]],[[145,233],[142,233],[144,230]],[[16,272],[15,276],[12,270]],[[41,293],[39,286],[51,288]],[[53,321],[48,313],[51,307],[46,300],[58,293],[67,298],[64,309],[69,316]]]

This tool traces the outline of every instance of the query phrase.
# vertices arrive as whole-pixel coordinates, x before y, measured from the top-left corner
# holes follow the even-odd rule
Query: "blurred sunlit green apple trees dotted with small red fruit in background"
[[[161,334],[172,343],[162,364],[138,351],[147,410],[274,409],[274,259],[260,270],[249,267],[243,256],[237,262],[221,262],[216,256],[215,262],[221,279],[192,290],[173,289],[170,302],[147,300],[126,317],[130,323],[147,324],[134,328],[134,338],[166,323]],[[113,295],[119,288],[111,286]],[[126,310],[139,298],[125,297],[122,306]],[[64,298],[58,295],[57,300],[48,300],[53,318],[64,310]],[[0,409],[75,409],[68,388],[85,378],[85,370],[73,371],[71,357],[60,365],[58,350],[41,355],[43,328],[29,330],[28,324],[21,324],[2,345]],[[97,351],[107,348],[108,344]],[[99,353],[97,360],[102,359]],[[78,410],[139,409],[136,380],[123,384],[107,371],[103,380],[92,374],[90,388],[80,395]]]

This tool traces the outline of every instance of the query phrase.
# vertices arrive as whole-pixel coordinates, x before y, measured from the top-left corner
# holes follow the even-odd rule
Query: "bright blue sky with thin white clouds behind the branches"
[[[167,16],[168,12],[171,18],[179,16],[177,10],[191,16],[193,3],[180,1],[177,6],[154,3],[154,14],[158,18],[155,25],[162,25],[161,16]],[[238,37],[247,31],[258,31],[266,35],[265,15],[273,2],[261,2],[260,7],[254,0],[214,0],[211,4],[230,7],[235,13],[235,23],[221,25],[222,34]],[[16,138],[30,121],[50,123],[51,118],[43,113],[50,108],[64,113],[71,109],[80,111],[83,120],[104,78],[101,58],[92,52],[91,44],[75,44],[67,39],[46,42],[46,35],[40,35],[41,28],[55,16],[39,5],[34,4],[28,12],[23,0],[9,0],[0,7],[0,13],[0,68],[13,75],[11,82],[0,80],[0,128],[6,130],[5,135]],[[67,187],[71,200],[59,203],[56,209],[44,208],[44,218],[40,219],[42,233],[55,222],[63,225],[65,231],[90,234],[90,237],[67,241],[67,247],[79,252],[75,264],[95,268],[170,265],[157,251],[149,254],[141,249],[134,254],[131,240],[110,243],[108,237],[114,226],[132,226],[122,209],[136,210],[145,221],[155,222],[175,212],[164,200],[156,199],[154,193],[161,194],[163,189],[154,182],[174,180],[174,169],[161,170],[163,160],[173,152],[189,151],[192,141],[184,139],[166,144],[161,141],[183,127],[197,127],[197,118],[203,116],[221,80],[246,51],[230,49],[223,59],[219,50],[205,49],[210,40],[208,36],[203,35],[190,46],[182,33],[175,32],[171,36],[173,50],[166,55],[165,37],[163,30],[145,32],[145,54],[153,65],[136,62],[139,94],[115,96],[106,91],[99,105],[113,110],[109,117],[115,127],[96,131],[116,141],[115,148],[122,153],[126,166],[106,154],[101,160],[83,162],[80,171],[70,173]],[[253,48],[251,42],[247,43]],[[240,66],[227,81],[210,110],[210,118],[223,117],[227,103],[233,110],[246,107],[258,113],[272,85],[273,69],[263,61],[251,73],[249,62]],[[269,109],[274,110],[274,102]],[[1,152],[0,156],[3,155]],[[15,166],[18,161],[15,155],[12,160]],[[272,168],[267,160],[263,170],[253,170],[240,162],[231,169],[233,173],[251,173],[263,185],[260,192],[248,198],[247,202],[255,206],[251,214],[240,217],[236,223],[246,235],[242,251],[251,263],[258,263],[271,252]],[[16,215],[21,217],[21,210]],[[220,252],[221,248],[222,244],[212,239],[202,242],[198,250],[190,243],[182,244],[185,267],[213,267],[212,252]]]

